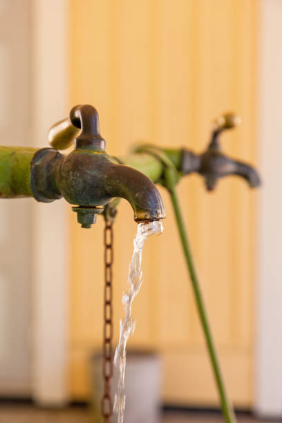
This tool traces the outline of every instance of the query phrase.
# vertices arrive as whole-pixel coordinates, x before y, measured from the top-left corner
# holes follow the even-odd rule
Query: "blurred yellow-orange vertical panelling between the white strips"
[[[256,154],[256,0],[71,1],[71,103],[100,113],[106,149],[133,142],[201,151],[211,120],[236,111],[242,126],[223,137],[227,153]],[[164,359],[164,400],[218,403],[169,198],[164,234],[144,252],[144,285],[135,300],[131,346]],[[229,391],[252,403],[254,227],[256,194],[238,178],[208,194],[198,176],[179,194]],[[102,219],[82,230],[71,216],[70,389],[88,395],[88,357],[102,341]],[[115,225],[115,332],[135,223],[122,204]]]

